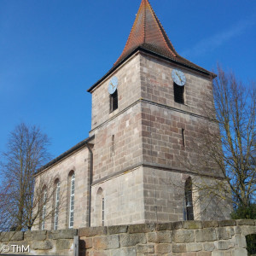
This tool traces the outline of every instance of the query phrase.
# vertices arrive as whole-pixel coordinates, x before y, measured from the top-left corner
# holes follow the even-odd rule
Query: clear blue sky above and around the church
[[[177,52],[256,80],[256,1],[151,0]],[[90,131],[90,93],[128,38],[140,0],[0,0],[0,151],[21,121],[57,156]]]

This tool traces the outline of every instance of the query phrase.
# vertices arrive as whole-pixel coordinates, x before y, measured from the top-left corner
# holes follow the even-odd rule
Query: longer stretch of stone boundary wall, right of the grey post
[[[185,221],[79,230],[80,256],[243,256],[254,220]]]

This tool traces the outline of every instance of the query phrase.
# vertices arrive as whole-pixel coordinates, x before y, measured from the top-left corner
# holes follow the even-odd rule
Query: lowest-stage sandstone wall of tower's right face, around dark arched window
[[[187,173],[143,167],[143,195],[145,223],[164,223],[184,220],[185,181],[192,178],[193,212],[195,220],[222,220],[230,218],[231,206],[227,200],[217,199],[212,178]],[[207,184],[207,187],[204,187]],[[216,200],[215,200],[216,197]]]

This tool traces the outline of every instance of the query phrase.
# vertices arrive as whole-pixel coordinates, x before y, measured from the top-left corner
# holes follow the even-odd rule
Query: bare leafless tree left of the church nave
[[[34,174],[49,160],[48,146],[49,138],[37,126],[21,123],[10,133],[0,170],[0,230],[30,230],[42,212],[43,186],[34,191]],[[53,181],[44,177],[42,183]]]

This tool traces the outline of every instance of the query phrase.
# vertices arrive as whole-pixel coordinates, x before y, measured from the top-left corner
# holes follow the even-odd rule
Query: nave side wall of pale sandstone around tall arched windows
[[[87,211],[88,208],[88,178],[90,173],[90,154],[86,147],[79,148],[76,152],[64,158],[53,166],[50,166],[46,172],[40,173],[36,177],[36,184],[39,187],[45,183],[49,195],[49,201],[46,202],[46,219],[45,230],[54,229],[54,212],[55,212],[55,181],[60,182],[60,207],[59,207],[59,221],[58,229],[64,230],[68,228],[69,224],[69,190],[70,178],[69,174],[75,174],[75,195],[74,195],[74,228],[87,225]],[[36,186],[37,189],[37,186]],[[35,190],[36,195],[36,190]],[[43,195],[41,195],[43,198]],[[36,209],[37,210],[37,209]],[[39,219],[36,221],[38,225],[34,226],[34,230],[41,230],[39,228]]]

